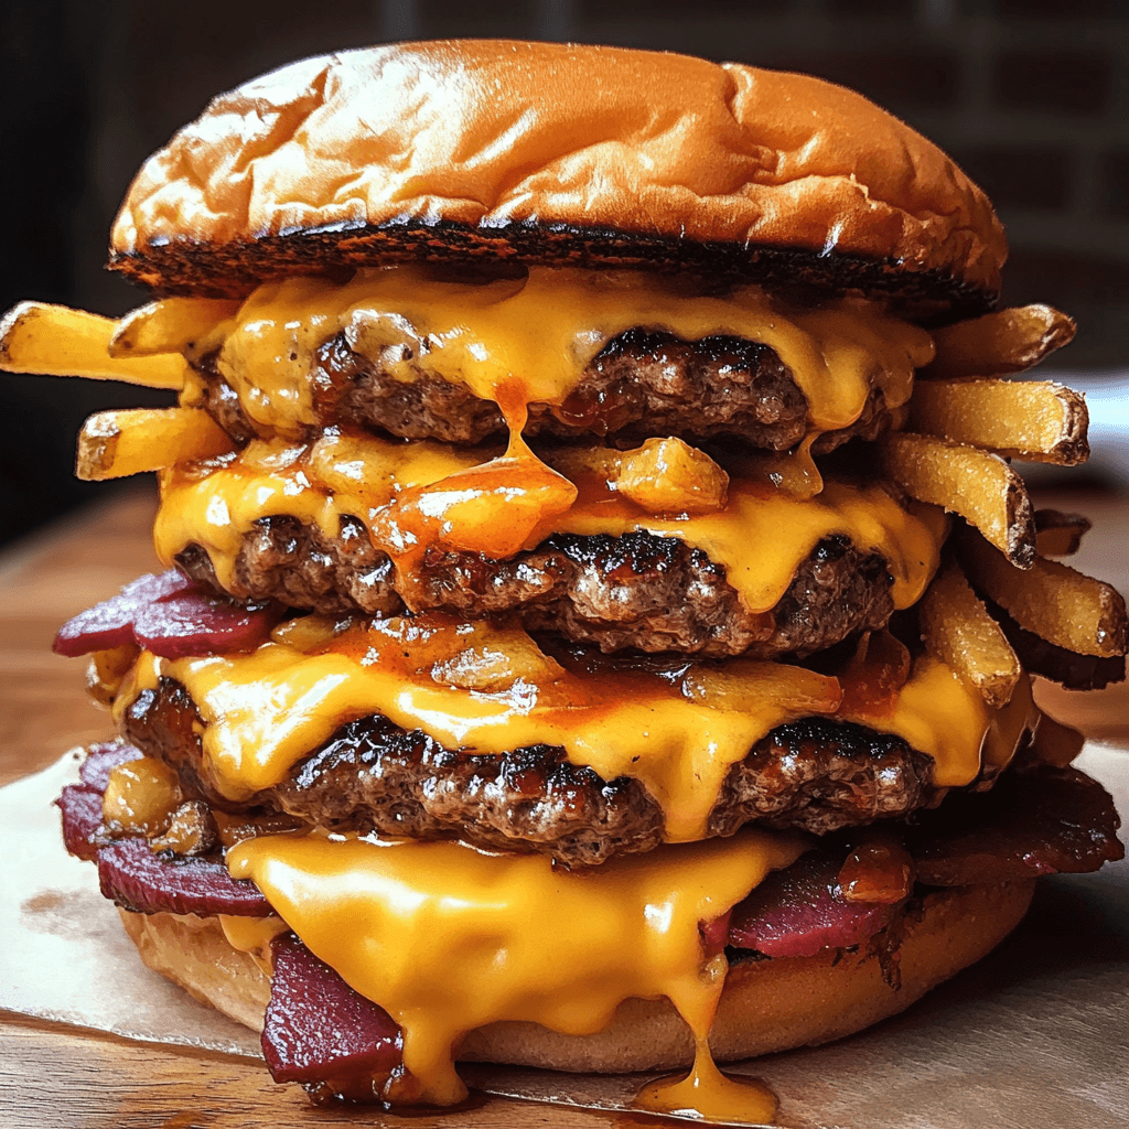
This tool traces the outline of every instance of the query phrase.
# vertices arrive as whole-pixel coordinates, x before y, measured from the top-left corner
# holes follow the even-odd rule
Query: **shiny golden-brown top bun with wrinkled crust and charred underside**
[[[998,299],[1007,248],[936,146],[842,87],[466,40],[323,55],[220,95],[146,161],[111,253],[169,294],[501,257],[813,281],[957,316]]]

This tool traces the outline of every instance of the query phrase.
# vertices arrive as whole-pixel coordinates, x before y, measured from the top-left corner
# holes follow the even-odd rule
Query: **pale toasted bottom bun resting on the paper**
[[[901,945],[901,988],[882,979],[876,956],[826,949],[815,956],[747,961],[726,978],[710,1030],[718,1061],[825,1043],[909,1007],[930,988],[974,964],[1023,919],[1034,879],[961,886],[929,894]],[[149,968],[225,1015],[262,1031],[270,978],[231,947],[215,919],[122,911]],[[619,1074],[673,1069],[693,1060],[686,1025],[665,1000],[629,999],[595,1035],[562,1035],[534,1023],[491,1023],[460,1048],[466,1061]]]

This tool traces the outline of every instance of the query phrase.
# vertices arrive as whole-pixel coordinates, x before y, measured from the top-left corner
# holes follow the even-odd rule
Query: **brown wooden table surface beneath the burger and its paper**
[[[1129,499],[1057,495],[1042,500],[1094,518],[1079,567],[1129,589]],[[0,785],[50,764],[76,744],[107,736],[108,718],[82,691],[85,664],[52,655],[51,639],[70,615],[158,568],[149,539],[154,508],[151,492],[125,492],[0,555]],[[1087,735],[1129,744],[1124,685],[1079,695],[1044,683],[1039,697],[1049,711]],[[262,1066],[242,1059],[167,1050],[6,1014],[0,1014],[0,1039],[5,1127],[404,1124],[374,1110],[315,1110],[298,1087],[275,1086]],[[453,1117],[409,1122],[419,1129],[623,1129],[634,1123],[645,1122],[504,1099],[484,1100]]]

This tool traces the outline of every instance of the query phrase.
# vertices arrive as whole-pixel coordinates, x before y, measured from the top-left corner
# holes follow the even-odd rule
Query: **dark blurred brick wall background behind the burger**
[[[861,90],[992,196],[1013,248],[1006,299],[1079,321],[1056,362],[1129,367],[1129,0],[9,0],[0,20],[0,308],[139,305],[102,269],[110,225],[134,169],[219,90],[340,47],[501,35],[677,50]],[[0,375],[0,540],[114,489],[71,478],[89,412],[163,402]]]

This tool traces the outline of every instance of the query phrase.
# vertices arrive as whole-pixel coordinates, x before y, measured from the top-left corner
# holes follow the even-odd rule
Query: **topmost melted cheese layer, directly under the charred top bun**
[[[695,296],[638,272],[534,266],[526,278],[483,283],[393,266],[360,271],[344,286],[297,278],[260,287],[189,356],[218,349],[219,371],[247,414],[297,437],[321,422],[314,355],[339,333],[404,383],[425,374],[496,402],[516,385],[526,403],[561,404],[596,353],[634,326],[771,347],[807,397],[814,431],[852,423],[872,387],[891,408],[905,403],[914,368],[934,353],[924,330],[861,300],[789,309],[755,287]],[[190,387],[185,402],[198,395]]]

